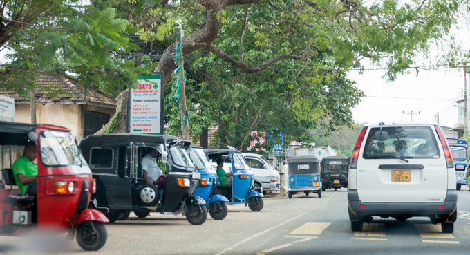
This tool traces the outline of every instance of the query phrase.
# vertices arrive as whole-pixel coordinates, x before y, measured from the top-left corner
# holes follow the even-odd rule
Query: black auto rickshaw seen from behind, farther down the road
[[[325,157],[321,160],[321,178],[323,179],[323,191],[348,187],[348,157]]]

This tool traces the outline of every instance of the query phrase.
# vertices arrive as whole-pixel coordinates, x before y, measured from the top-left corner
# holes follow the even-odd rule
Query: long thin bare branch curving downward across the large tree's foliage
[[[220,57],[223,61],[227,62],[228,64],[231,64],[232,66],[236,68],[240,68],[241,70],[245,71],[245,73],[258,73],[262,70],[265,70],[268,66],[271,66],[272,64],[282,59],[294,59],[294,60],[305,59],[305,57],[300,57],[296,55],[279,55],[277,57],[274,57],[274,59],[271,59],[270,61],[266,62],[265,64],[261,64],[259,66],[247,66],[247,64],[245,64],[244,62],[238,62],[235,59],[232,59],[232,57],[229,57],[229,55],[225,54],[222,50],[220,50],[213,44],[208,44],[206,48],[210,52],[217,55],[217,57]]]

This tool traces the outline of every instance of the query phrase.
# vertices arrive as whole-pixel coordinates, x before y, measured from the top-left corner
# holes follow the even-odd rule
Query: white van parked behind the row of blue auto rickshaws
[[[263,187],[263,191],[279,191],[281,182],[279,172],[265,160],[263,155],[242,153],[254,175],[254,185]]]

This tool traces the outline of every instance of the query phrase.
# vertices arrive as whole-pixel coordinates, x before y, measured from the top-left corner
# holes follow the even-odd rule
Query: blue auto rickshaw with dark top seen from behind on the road
[[[289,160],[289,198],[292,194],[318,193],[321,198],[320,161],[314,156],[292,157]]]

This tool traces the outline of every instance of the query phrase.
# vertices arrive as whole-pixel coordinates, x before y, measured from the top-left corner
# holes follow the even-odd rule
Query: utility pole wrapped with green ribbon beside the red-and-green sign
[[[176,28],[176,43],[181,43],[181,28]],[[178,50],[180,57],[178,58],[178,66],[181,66],[178,70],[178,79],[180,79],[181,89],[180,89],[180,113],[181,113],[181,135],[182,140],[189,140],[189,124],[188,124],[188,114],[186,106],[186,87],[185,87],[185,67],[182,56],[182,47]]]

